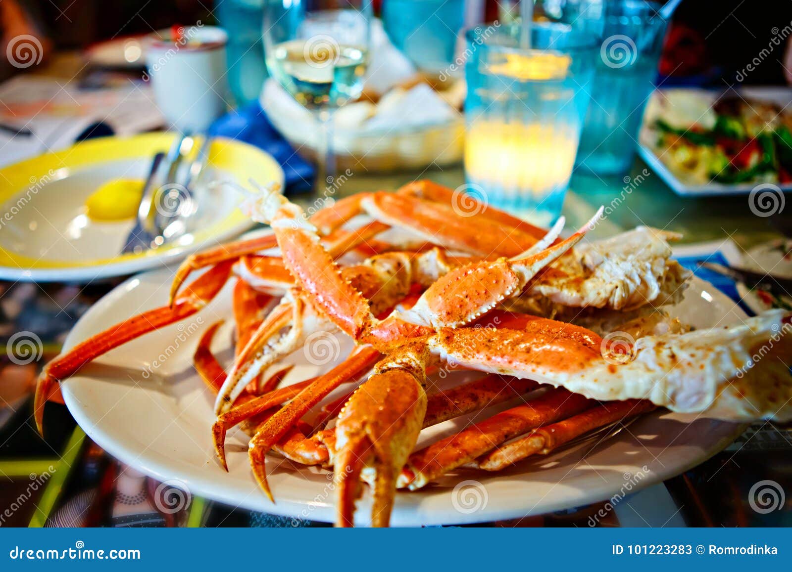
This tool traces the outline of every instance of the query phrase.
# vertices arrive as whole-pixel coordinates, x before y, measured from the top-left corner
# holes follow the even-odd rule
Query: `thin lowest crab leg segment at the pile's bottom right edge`
[[[501,445],[476,460],[485,471],[501,471],[534,453],[546,454],[588,431],[616,421],[625,421],[652,411],[656,405],[647,400],[608,401],[573,415],[569,419],[539,427],[506,445]]]

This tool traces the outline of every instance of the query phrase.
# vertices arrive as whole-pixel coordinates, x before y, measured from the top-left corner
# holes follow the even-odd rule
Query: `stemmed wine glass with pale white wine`
[[[316,188],[325,194],[335,177],[333,110],[363,91],[371,13],[371,0],[265,0],[267,69],[322,124]]]

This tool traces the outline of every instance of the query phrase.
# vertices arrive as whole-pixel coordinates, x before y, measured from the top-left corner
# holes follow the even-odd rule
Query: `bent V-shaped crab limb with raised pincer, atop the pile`
[[[413,309],[380,322],[371,315],[364,296],[345,280],[332,256],[322,248],[317,229],[305,220],[299,206],[274,191],[265,191],[249,209],[259,222],[272,224],[284,263],[311,305],[353,339],[375,344],[426,335],[444,325],[465,324],[505,298],[520,294],[543,267],[577,244],[601,214],[600,209],[583,229],[542,252],[473,263],[448,272],[428,288]],[[554,229],[554,236],[543,241],[553,241],[558,232],[560,226]],[[531,241],[531,246],[534,244],[536,241]]]

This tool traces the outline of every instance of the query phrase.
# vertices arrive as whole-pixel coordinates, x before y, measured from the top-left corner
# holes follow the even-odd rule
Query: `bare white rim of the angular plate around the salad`
[[[689,102],[691,99],[695,98],[700,100],[701,104],[705,107],[712,104],[718,96],[717,92],[707,91],[705,89],[677,88],[663,90],[662,93],[668,95],[670,92],[686,92],[685,101]],[[783,108],[786,108],[790,104],[790,100],[792,100],[792,92],[790,92],[790,89],[785,88],[745,88],[741,89],[740,93],[746,99],[753,98],[756,100],[769,101],[779,104]],[[672,188],[672,191],[681,196],[747,195],[757,184],[760,184],[761,181],[733,185],[717,183],[715,181],[700,183],[698,180],[689,180],[683,173],[673,172],[672,169],[669,169],[661,160],[661,157],[657,155],[658,152],[653,147],[652,142],[656,140],[657,134],[649,127],[654,119],[662,115],[661,105],[657,104],[657,101],[663,98],[664,95],[656,91],[652,94],[651,100],[646,106],[643,125],[640,134],[638,134],[638,154],[641,155],[642,159],[646,161],[654,172],[657,172],[657,174],[662,177],[665,183]],[[695,120],[699,113],[687,111],[686,115],[691,115],[691,120]],[[782,191],[792,191],[792,184],[779,184],[777,186]]]

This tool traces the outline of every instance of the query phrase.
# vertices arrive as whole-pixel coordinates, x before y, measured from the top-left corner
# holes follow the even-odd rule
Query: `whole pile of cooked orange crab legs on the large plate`
[[[786,313],[687,333],[651,321],[656,307],[680,299],[689,276],[669,259],[676,236],[640,228],[581,243],[597,213],[562,240],[563,221],[544,231],[484,204],[469,216],[458,200],[419,182],[307,217],[277,189],[262,189],[246,209],[272,234],[191,256],[169,305],[56,358],[40,378],[37,421],[56,381],[197,312],[234,273],[234,362],[226,369],[211,354],[219,324],[204,332],[194,359],[217,393],[215,450],[226,467],[227,431],[252,434],[250,464],[270,498],[269,452],[332,466],[339,525],[352,525],[364,483],[372,524],[387,525],[397,488],[425,487],[461,466],[499,470],[657,406],[718,419],[792,417]],[[619,317],[657,327],[614,348],[600,334]],[[600,334],[570,321],[599,324]],[[356,348],[328,372],[278,388],[288,354],[318,332]],[[438,368],[487,375],[437,391]],[[328,403],[343,384],[358,386]],[[522,403],[415,450],[423,428],[519,396]]]

